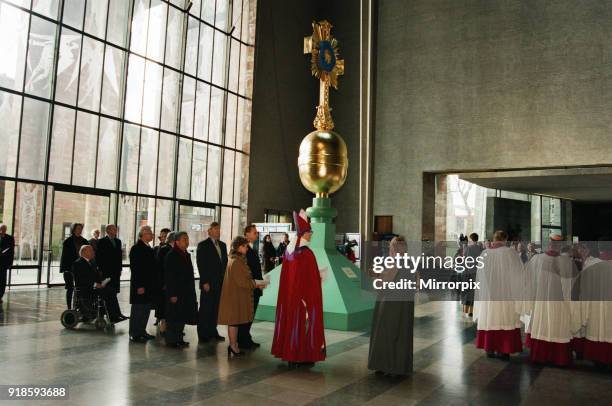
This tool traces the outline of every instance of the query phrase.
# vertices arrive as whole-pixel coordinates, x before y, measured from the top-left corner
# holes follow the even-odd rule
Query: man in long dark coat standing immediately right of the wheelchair
[[[151,314],[156,283],[155,252],[149,243],[153,241],[153,231],[149,226],[140,227],[138,242],[130,249],[130,340],[145,343],[155,336],[147,333],[147,323]]]

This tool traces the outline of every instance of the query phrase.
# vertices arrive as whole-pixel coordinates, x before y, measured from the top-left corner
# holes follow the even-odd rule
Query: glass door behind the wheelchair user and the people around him
[[[53,190],[50,218],[49,245],[46,255],[46,274],[49,286],[61,285],[64,279],[59,272],[62,243],[70,236],[73,223],[83,224],[83,237],[89,240],[94,230],[105,235],[109,221],[110,195],[92,195],[73,191]]]

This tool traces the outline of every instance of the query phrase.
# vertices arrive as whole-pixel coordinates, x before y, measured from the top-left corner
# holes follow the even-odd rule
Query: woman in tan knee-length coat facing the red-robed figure
[[[218,323],[227,325],[230,345],[227,355],[242,355],[238,348],[238,327],[253,321],[253,289],[263,288],[251,275],[246,262],[248,241],[236,237],[232,241],[229,261],[223,278]]]

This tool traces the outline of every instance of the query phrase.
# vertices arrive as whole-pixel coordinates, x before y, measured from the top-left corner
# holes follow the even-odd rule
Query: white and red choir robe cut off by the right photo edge
[[[579,281],[584,358],[612,364],[612,260],[586,267]]]

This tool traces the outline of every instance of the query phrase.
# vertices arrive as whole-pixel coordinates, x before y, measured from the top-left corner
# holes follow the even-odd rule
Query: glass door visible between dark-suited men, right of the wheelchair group
[[[186,231],[189,235],[189,253],[196,277],[199,277],[198,265],[196,261],[196,249],[198,243],[208,238],[208,226],[213,221],[218,221],[218,213],[215,208],[179,205],[178,229]]]

